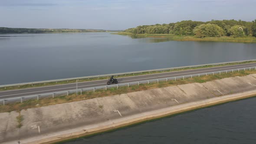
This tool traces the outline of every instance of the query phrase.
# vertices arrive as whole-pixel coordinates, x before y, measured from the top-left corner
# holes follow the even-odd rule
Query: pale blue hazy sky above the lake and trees
[[[0,0],[0,27],[124,30],[182,20],[256,19],[256,0]]]

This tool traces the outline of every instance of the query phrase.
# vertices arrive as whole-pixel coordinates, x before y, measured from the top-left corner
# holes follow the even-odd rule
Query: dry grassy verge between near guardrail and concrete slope
[[[6,105],[0,105],[0,112],[10,112],[10,111],[20,111],[27,108],[36,108],[46,105],[56,105],[66,102],[72,102],[72,101],[81,101],[91,98],[99,98],[99,97],[106,97],[111,95],[120,95],[125,94],[128,92],[137,92],[142,90],[148,90],[152,88],[163,88],[173,85],[182,85],[182,84],[188,84],[188,83],[203,83],[208,82],[216,79],[223,79],[228,77],[234,77],[234,76],[245,76],[249,74],[256,73],[256,70],[252,71],[240,71],[240,72],[234,72],[234,73],[223,73],[221,75],[208,75],[208,76],[201,76],[201,77],[193,77],[192,79],[180,79],[177,81],[168,81],[168,82],[159,82],[159,83],[150,83],[150,84],[143,84],[143,85],[133,85],[130,87],[119,87],[117,88],[110,88],[108,90],[97,90],[95,92],[83,92],[79,95],[69,95],[69,96],[59,96],[55,98],[42,98],[39,100],[28,100],[23,101],[23,103],[16,102],[16,103],[8,103]],[[99,105],[99,107],[103,107],[103,105]]]

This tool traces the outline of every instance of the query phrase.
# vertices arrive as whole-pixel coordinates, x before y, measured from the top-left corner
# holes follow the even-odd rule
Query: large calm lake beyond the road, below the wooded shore
[[[0,34],[0,85],[245,59],[256,59],[256,43],[110,33]]]

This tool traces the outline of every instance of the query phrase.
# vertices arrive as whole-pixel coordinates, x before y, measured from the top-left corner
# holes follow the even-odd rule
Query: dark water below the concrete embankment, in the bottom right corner
[[[234,101],[64,144],[255,144],[255,104]]]

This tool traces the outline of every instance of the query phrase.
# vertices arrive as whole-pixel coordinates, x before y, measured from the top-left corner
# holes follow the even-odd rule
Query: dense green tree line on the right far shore
[[[179,36],[220,37],[220,36],[255,36],[256,20],[211,20],[208,22],[184,20],[177,23],[137,26],[126,29],[133,34],[175,34]]]

